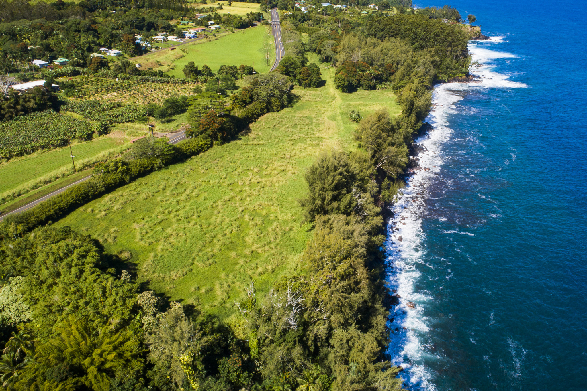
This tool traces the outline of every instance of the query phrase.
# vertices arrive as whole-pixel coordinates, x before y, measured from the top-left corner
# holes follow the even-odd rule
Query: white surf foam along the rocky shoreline
[[[411,385],[412,389],[436,390],[433,375],[425,362],[442,359],[441,356],[431,353],[420,340],[420,336],[429,332],[430,319],[424,314],[424,308],[433,298],[428,293],[417,290],[416,281],[421,276],[417,266],[426,264],[422,258],[426,253],[422,244],[422,241],[426,239],[426,233],[422,229],[421,216],[426,212],[427,188],[432,181],[435,181],[441,170],[445,159],[443,145],[453,134],[453,130],[448,127],[448,115],[456,113],[455,104],[463,99],[467,91],[480,87],[527,87],[523,83],[508,80],[505,74],[492,70],[494,68],[492,60],[511,58],[515,57],[514,55],[485,49],[475,43],[470,43],[469,49],[473,60],[481,64],[473,72],[480,82],[444,83],[434,88],[433,109],[427,118],[427,121],[433,125],[433,130],[416,140],[417,144],[424,148],[424,152],[417,157],[418,163],[429,170],[415,171],[407,179],[407,186],[402,189],[397,202],[392,206],[394,217],[390,220],[385,243],[387,260],[393,267],[390,269],[389,281],[400,295],[399,304],[394,308],[393,314],[390,314],[394,321],[389,324],[392,330],[390,335],[392,341],[388,353],[395,365],[401,365],[406,369],[402,372],[402,378]],[[501,217],[501,215],[492,215],[492,217]],[[446,221],[446,218],[440,217],[438,220]],[[445,233],[457,232],[457,230],[445,231]],[[469,232],[458,233],[474,236]],[[456,250],[460,251],[458,248]],[[450,273],[450,270],[447,272],[449,275],[446,278],[451,278],[453,273]],[[414,308],[408,307],[408,302],[415,303]]]

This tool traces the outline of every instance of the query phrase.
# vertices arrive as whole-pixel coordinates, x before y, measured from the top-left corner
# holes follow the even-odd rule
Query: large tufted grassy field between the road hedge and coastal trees
[[[311,237],[298,199],[304,174],[322,153],[354,148],[348,111],[399,112],[391,91],[342,94],[333,69],[320,89],[217,145],[87,203],[55,223],[92,234],[110,254],[136,265],[139,281],[171,300],[202,305],[222,318],[254,281],[259,296],[298,273]]]

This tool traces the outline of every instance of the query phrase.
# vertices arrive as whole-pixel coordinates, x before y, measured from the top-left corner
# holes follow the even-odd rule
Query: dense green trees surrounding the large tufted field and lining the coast
[[[2,386],[72,391],[401,389],[397,375],[402,368],[384,354],[393,332],[389,308],[397,298],[383,283],[382,211],[402,186],[413,137],[430,110],[432,84],[467,73],[470,59],[469,37],[440,20],[460,20],[456,10],[429,8],[414,14],[403,8],[411,4],[389,5],[398,8],[393,16],[294,12],[282,21],[286,53],[276,72],[258,75],[252,67],[227,65],[214,74],[188,63],[186,82],[197,84],[191,96],[133,106],[130,117],[123,113],[130,110],[126,106],[70,103],[70,111],[82,118],[108,113],[113,122],[187,112],[190,138],[176,146],[144,138],[123,157],[97,164],[89,181],[0,223]],[[0,9],[4,72],[22,67],[31,56],[68,56],[78,60],[68,72],[150,77],[161,83],[169,78],[140,76],[127,63],[92,70],[86,57],[99,46],[131,45],[125,35],[171,31],[171,19],[193,12],[180,2],[151,0],[35,5],[15,0],[3,2]],[[138,53],[135,49],[127,48]],[[237,325],[196,305],[168,301],[146,283],[137,283],[129,254],[106,253],[95,233],[50,225],[117,186],[230,142],[261,115],[291,105],[294,86],[321,87],[320,67],[309,62],[308,53],[336,67],[334,83],[342,93],[392,89],[402,113],[396,118],[386,111],[365,118],[351,113],[360,148],[322,155],[305,175],[308,192],[299,202],[313,237],[303,251],[301,272],[278,278],[264,297],[257,297],[251,282],[234,304]],[[239,89],[234,81],[241,77],[246,82]],[[35,99],[34,108],[26,106]],[[4,121],[58,115],[52,111],[58,108],[55,102],[40,87],[7,96]]]

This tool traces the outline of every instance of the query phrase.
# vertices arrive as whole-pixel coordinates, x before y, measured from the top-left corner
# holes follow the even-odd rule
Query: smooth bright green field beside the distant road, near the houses
[[[221,65],[255,64],[255,70],[260,73],[268,72],[265,60],[266,54],[275,56],[275,50],[271,46],[271,30],[268,26],[256,26],[248,29],[235,30],[234,33],[222,36],[220,39],[209,42],[183,45],[185,55],[173,61],[175,68],[167,72],[175,77],[185,77],[183,67],[190,61],[202,69],[209,66],[214,72]],[[269,63],[272,64],[270,60]]]

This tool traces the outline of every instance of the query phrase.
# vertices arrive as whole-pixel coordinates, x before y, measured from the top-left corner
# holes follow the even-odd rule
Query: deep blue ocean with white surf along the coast
[[[450,4],[492,39],[393,208],[389,353],[414,390],[587,390],[586,4]]]

